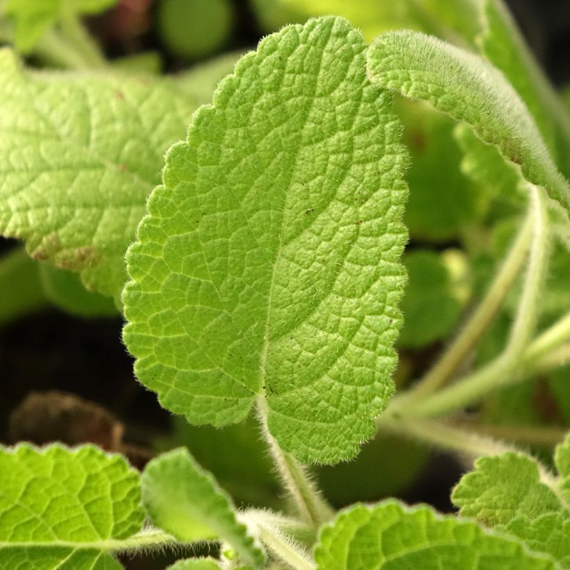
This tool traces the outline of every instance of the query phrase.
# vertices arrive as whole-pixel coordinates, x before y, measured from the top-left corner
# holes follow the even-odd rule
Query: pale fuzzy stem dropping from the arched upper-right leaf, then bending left
[[[530,364],[527,358],[528,339],[534,328],[539,294],[544,282],[546,269],[546,250],[548,249],[548,229],[546,227],[546,206],[542,191],[535,188],[531,193],[533,204],[533,241],[530,259],[526,271],[523,293],[519,309],[514,320],[510,341],[505,351],[480,371],[464,377],[452,386],[428,396],[424,400],[394,400],[392,411],[405,411],[406,414],[433,417],[441,416],[466,405],[478,402],[485,394],[500,386],[516,382],[525,366]],[[531,345],[532,348],[532,345]],[[531,350],[528,350],[532,354]]]

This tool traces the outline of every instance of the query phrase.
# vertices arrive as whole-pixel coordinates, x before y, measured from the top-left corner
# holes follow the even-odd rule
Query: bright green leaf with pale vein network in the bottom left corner
[[[3,570],[115,570],[107,551],[142,527],[138,473],[94,446],[0,448]]]

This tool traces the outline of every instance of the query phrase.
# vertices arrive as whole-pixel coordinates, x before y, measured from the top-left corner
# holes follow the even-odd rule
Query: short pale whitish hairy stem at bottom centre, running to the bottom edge
[[[246,511],[240,519],[257,530],[259,540],[273,555],[295,570],[313,570],[316,564],[300,544],[288,537],[263,511]]]

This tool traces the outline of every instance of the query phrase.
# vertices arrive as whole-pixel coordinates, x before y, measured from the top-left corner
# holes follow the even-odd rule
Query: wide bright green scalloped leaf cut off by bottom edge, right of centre
[[[323,570],[557,568],[512,537],[395,500],[341,511],[321,530],[314,554]]]

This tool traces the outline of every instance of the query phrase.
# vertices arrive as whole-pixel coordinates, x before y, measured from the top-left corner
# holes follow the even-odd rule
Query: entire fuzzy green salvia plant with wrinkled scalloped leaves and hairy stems
[[[503,3],[272,3],[304,23],[178,76],[101,56],[80,17],[111,4],[1,5],[0,231],[27,252],[2,261],[6,311],[40,279],[122,312],[138,382],[188,424],[246,422],[206,455],[253,471],[250,497],[270,457],[287,500],[240,499],[242,471],[218,483],[186,446],[140,473],[20,443],[0,567],[570,568],[570,115]],[[352,502],[420,469],[395,435],[465,459],[457,515],[329,505],[311,469]]]

